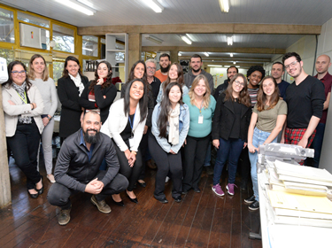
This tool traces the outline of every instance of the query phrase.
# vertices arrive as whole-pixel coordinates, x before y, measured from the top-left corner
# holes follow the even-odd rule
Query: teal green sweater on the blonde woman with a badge
[[[198,124],[199,109],[196,105],[190,104],[190,97],[186,95],[183,97],[183,103],[189,106],[190,124],[188,135],[196,138],[202,138],[210,135],[212,130],[212,118],[216,101],[214,97],[210,96],[210,105],[208,108],[202,108],[203,123]]]

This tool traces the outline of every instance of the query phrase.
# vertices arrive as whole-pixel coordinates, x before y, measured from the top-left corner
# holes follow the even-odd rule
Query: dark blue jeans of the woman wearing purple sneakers
[[[235,183],[237,161],[240,158],[241,151],[243,150],[244,141],[242,139],[229,138],[228,140],[224,140],[223,138],[220,138],[219,143],[217,159],[214,164],[213,185],[220,182],[222,169],[224,168],[227,160],[228,183]]]

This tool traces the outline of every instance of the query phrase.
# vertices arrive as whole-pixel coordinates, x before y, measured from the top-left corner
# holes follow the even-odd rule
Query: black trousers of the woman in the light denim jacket
[[[165,179],[170,172],[170,177],[173,181],[172,197],[177,198],[181,196],[182,191],[182,163],[181,152],[172,154],[164,151],[158,144],[155,136],[149,135],[149,149],[152,158],[156,161],[158,170],[156,174],[156,188],[154,190],[154,197],[157,199],[166,198]]]

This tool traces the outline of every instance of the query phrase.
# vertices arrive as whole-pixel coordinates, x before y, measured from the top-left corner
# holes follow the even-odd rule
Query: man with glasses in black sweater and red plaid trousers
[[[309,147],[323,112],[324,85],[313,76],[305,74],[303,61],[296,52],[286,53],[282,63],[287,73],[294,78],[284,98],[288,113],[282,143]]]

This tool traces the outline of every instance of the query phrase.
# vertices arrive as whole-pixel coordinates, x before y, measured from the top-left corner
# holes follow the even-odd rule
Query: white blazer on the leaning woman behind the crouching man
[[[105,135],[113,138],[114,142],[120,148],[120,151],[126,151],[128,149],[127,144],[120,136],[120,133],[126,128],[128,122],[128,116],[124,112],[124,104],[125,101],[121,98],[111,105],[108,118],[100,130]],[[146,118],[142,122],[139,122],[140,120],[140,105],[137,104],[133,126],[134,144],[131,144],[132,146],[129,148],[130,151],[137,151],[142,140]]]

